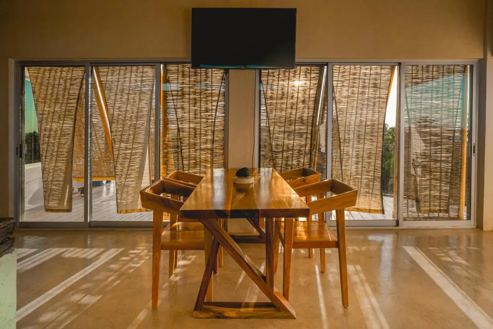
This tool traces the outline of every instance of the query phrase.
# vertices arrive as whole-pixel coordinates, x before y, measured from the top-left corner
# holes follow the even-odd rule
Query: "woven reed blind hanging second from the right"
[[[348,211],[384,213],[382,148],[392,70],[334,65],[332,177],[358,190]]]

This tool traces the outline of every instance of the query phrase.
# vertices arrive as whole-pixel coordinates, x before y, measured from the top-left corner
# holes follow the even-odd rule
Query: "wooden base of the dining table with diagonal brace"
[[[292,223],[293,219],[287,219]],[[289,299],[289,278],[291,271],[291,246],[284,250],[283,292],[274,287],[274,219],[266,218],[266,260],[264,275],[216,220],[200,219],[206,233],[206,268],[202,277],[193,316],[196,318],[218,319],[296,319]],[[285,225],[284,236],[293,235],[293,225]],[[213,302],[211,276],[221,245],[240,265],[246,275],[258,286],[271,302]],[[210,247],[209,247],[210,246]],[[207,301],[206,300],[207,297]]]

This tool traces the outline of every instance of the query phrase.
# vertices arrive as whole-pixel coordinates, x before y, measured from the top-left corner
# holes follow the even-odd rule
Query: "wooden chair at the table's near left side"
[[[163,213],[177,218],[184,201],[194,188],[171,180],[159,180],[141,190],[142,207],[152,209],[152,308],[157,309],[161,250],[204,250],[204,226],[200,222],[171,223],[163,231]],[[171,194],[172,197],[168,197]],[[170,260],[170,273],[176,267],[176,258]]]

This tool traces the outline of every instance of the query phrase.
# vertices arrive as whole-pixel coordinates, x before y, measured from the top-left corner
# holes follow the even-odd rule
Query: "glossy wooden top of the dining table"
[[[234,184],[238,169],[211,169],[180,209],[187,219],[308,217],[310,208],[273,168],[250,169],[252,184]]]

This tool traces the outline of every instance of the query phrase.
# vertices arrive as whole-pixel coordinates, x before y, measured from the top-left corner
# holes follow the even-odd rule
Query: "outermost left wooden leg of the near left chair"
[[[161,236],[163,232],[163,213],[152,212],[152,309],[157,309],[159,301],[159,278],[161,276]]]

